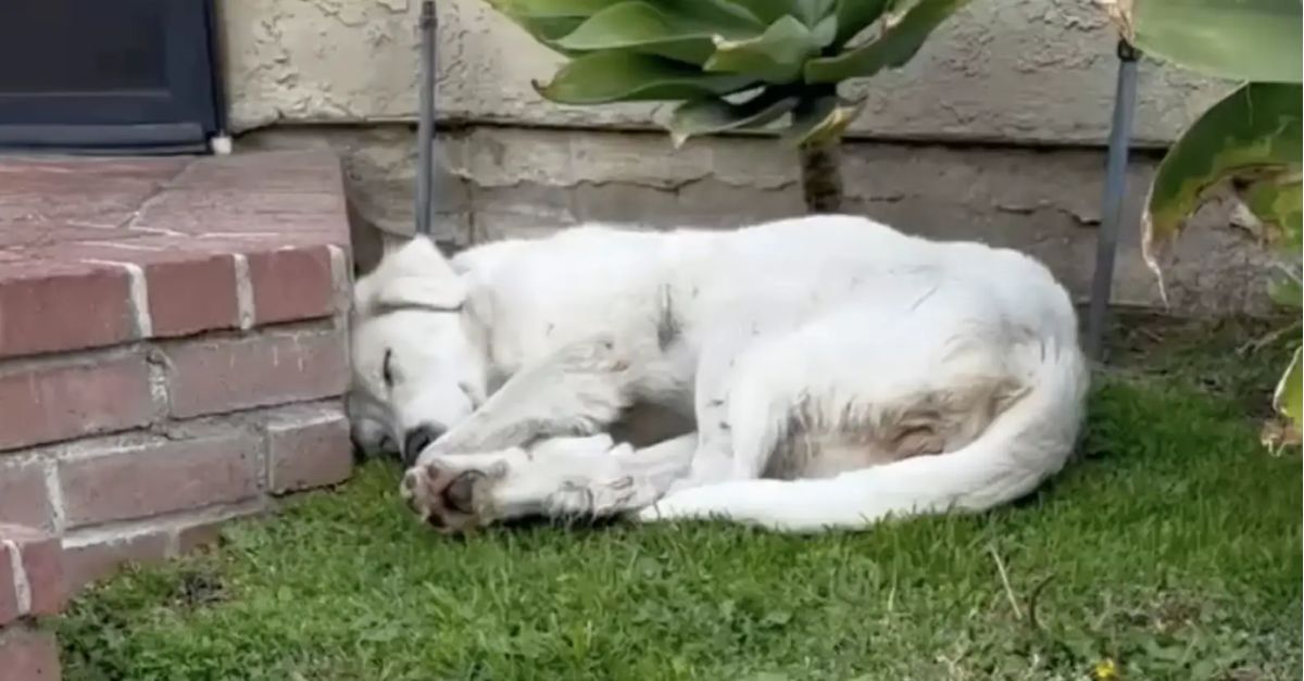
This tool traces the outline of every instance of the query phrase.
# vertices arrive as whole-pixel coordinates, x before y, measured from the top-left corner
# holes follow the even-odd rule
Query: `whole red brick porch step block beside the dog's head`
[[[0,524],[61,537],[64,586],[348,477],[333,157],[21,166],[0,181]],[[67,175],[80,193],[61,193]],[[5,222],[65,204],[124,215]]]

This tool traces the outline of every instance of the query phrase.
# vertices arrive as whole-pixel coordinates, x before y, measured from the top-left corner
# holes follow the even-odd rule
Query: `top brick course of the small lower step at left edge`
[[[50,532],[0,524],[0,561],[5,564],[0,569],[0,626],[20,616],[57,614],[63,609],[63,553],[60,539]],[[22,566],[21,573],[13,570],[14,562]]]

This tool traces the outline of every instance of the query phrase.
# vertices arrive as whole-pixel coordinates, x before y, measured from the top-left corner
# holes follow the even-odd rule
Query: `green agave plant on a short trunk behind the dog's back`
[[[836,211],[838,141],[863,100],[840,82],[904,65],[968,0],[488,0],[570,57],[535,89],[562,104],[678,102],[694,136],[772,130],[795,146],[812,211]]]

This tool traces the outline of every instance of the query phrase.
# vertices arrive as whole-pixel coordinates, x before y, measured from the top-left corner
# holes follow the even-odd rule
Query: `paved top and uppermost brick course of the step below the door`
[[[330,154],[0,160],[0,357],[330,317],[347,245]]]

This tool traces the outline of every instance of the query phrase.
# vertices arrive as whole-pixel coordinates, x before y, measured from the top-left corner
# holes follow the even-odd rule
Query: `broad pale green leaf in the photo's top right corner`
[[[1235,81],[1300,82],[1299,0],[1111,0],[1144,53]]]

